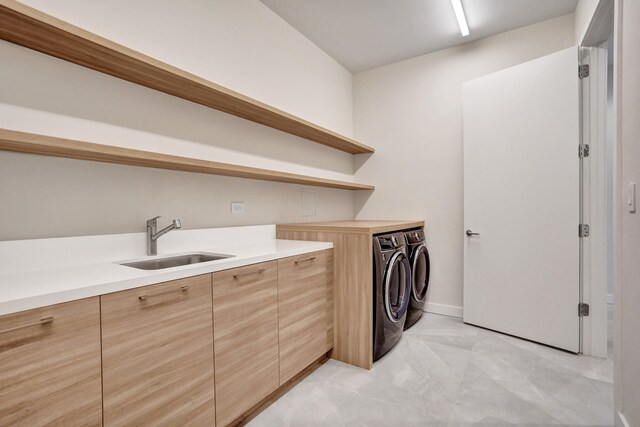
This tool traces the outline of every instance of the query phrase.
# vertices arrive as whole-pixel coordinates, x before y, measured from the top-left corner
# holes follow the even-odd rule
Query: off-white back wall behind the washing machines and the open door
[[[357,163],[358,219],[426,221],[429,299],[462,306],[462,83],[574,44],[566,15],[354,77],[354,133],[376,148]]]

